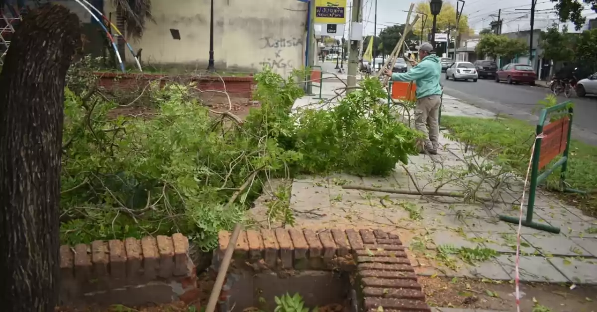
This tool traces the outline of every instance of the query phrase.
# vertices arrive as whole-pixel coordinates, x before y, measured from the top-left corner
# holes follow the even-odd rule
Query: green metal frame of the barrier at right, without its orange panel
[[[531,163],[531,184],[530,190],[528,193],[528,204],[527,204],[527,217],[522,220],[522,225],[525,227],[536,228],[537,230],[548,231],[550,233],[560,233],[559,227],[554,227],[549,224],[541,224],[533,221],[533,211],[535,208],[535,197],[537,195],[537,186],[543,183],[553,171],[558,168],[562,168],[560,172],[560,187],[563,191],[568,191],[572,193],[584,193],[580,190],[570,189],[565,187],[564,181],[566,180],[566,171],[568,169],[568,159],[570,157],[570,138],[572,134],[572,119],[573,119],[573,108],[571,105],[571,101],[565,101],[564,103],[557,104],[555,106],[549,107],[547,109],[541,110],[541,115],[539,116],[539,121],[537,123],[537,130],[536,134],[540,135],[543,133],[543,126],[545,125],[545,121],[547,119],[547,115],[553,112],[562,112],[567,111],[567,116],[570,118],[568,121],[568,133],[566,134],[567,141],[566,147],[564,149],[564,154],[562,157],[553,164],[553,166],[543,173],[539,174],[539,157],[541,155],[541,138],[537,138],[535,143],[535,150],[533,152],[533,162]],[[564,116],[562,116],[564,117]],[[511,217],[509,215],[500,215],[500,220],[506,221],[509,223],[518,224],[519,218],[518,217]]]

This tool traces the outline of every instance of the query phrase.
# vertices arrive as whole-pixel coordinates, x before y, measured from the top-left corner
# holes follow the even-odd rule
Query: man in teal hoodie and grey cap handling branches
[[[392,81],[414,81],[417,84],[417,107],[414,110],[415,128],[425,134],[424,150],[421,153],[437,154],[439,147],[439,106],[442,89],[439,85],[442,66],[439,57],[433,52],[433,45],[424,42],[418,48],[420,63],[406,73],[394,73],[386,70],[385,75]],[[427,133],[426,123],[429,123]],[[428,138],[427,138],[428,137]]]

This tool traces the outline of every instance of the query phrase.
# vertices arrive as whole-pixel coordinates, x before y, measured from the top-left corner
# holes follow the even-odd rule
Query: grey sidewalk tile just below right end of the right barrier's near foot
[[[555,256],[590,256],[589,252],[580,248],[573,240],[557,234],[525,235],[524,239],[543,255]]]

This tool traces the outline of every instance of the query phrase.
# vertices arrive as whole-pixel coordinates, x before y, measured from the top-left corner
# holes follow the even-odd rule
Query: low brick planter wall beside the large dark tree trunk
[[[62,305],[144,305],[198,296],[182,234],[60,246]]]

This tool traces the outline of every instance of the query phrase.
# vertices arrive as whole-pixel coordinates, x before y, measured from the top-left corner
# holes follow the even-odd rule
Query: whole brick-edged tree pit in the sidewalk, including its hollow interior
[[[216,266],[229,239],[220,233]],[[220,311],[273,311],[284,294],[299,294],[309,309],[431,311],[401,240],[381,230],[243,231],[226,281]]]

